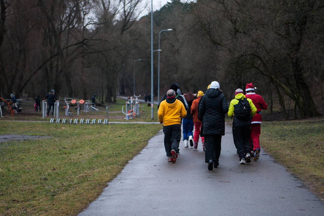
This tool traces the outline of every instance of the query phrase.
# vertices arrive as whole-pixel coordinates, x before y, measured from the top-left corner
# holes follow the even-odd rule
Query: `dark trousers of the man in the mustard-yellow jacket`
[[[181,125],[173,124],[163,126],[164,148],[167,156],[171,156],[171,150],[178,152],[179,142],[181,140]]]

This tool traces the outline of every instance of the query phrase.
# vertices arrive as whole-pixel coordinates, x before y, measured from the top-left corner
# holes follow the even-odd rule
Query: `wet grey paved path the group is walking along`
[[[323,215],[323,202],[263,151],[259,161],[239,165],[229,126],[213,171],[201,143],[193,150],[181,142],[177,162],[167,162],[163,137],[153,137],[79,216]]]

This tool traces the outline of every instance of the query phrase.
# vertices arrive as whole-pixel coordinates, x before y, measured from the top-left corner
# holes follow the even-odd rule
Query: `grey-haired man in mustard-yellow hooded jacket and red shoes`
[[[186,117],[187,111],[181,101],[176,99],[176,92],[167,92],[167,99],[160,103],[157,111],[159,122],[163,123],[164,147],[168,161],[177,161],[177,150],[181,140],[181,119]]]

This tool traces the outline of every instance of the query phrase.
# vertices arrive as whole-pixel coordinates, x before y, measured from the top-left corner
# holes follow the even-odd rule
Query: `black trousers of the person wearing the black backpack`
[[[238,150],[238,157],[244,158],[250,153],[250,125],[244,127],[233,127],[234,144]]]

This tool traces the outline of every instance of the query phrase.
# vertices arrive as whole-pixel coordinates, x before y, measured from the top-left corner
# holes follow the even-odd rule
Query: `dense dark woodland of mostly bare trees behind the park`
[[[113,102],[150,93],[151,14],[142,0],[0,0],[2,97],[45,95]],[[172,0],[154,11],[161,33],[163,95],[205,91],[218,81],[228,98],[253,82],[270,111],[316,117],[323,107],[324,2]],[[137,61],[134,67],[134,60]],[[157,52],[154,52],[157,95]],[[156,98],[156,97],[155,97]]]

